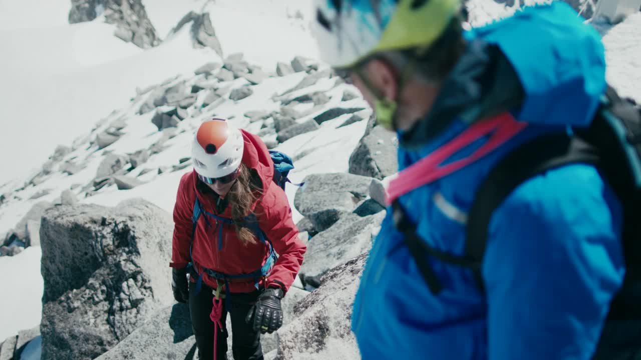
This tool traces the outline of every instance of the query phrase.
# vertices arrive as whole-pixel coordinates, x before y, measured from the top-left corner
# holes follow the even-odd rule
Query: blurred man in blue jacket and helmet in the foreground
[[[467,31],[459,8],[458,0],[317,0],[313,25],[323,60],[396,131],[400,170],[442,154],[440,165],[473,158],[397,197],[426,245],[460,256],[490,169],[528,140],[590,124],[606,81],[599,34],[565,3]],[[493,133],[462,134],[497,115],[515,131],[474,157]],[[362,357],[590,359],[626,271],[621,231],[622,206],[594,167],[549,170],[494,211],[484,291],[469,269],[428,257],[442,285],[435,293],[388,209],[354,302]]]

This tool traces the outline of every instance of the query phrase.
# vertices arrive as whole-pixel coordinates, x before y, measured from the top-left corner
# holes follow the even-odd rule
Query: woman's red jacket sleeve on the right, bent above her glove
[[[260,228],[267,234],[278,253],[278,260],[265,286],[278,284],[284,287],[283,291],[287,291],[301,268],[307,246],[298,237],[298,229],[292,219],[292,208],[283,189],[271,183],[262,199],[262,209],[257,215]]]

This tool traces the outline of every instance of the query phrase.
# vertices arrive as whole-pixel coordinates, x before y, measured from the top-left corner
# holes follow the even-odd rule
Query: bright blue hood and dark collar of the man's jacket
[[[568,4],[524,8],[465,37],[433,108],[399,133],[403,147],[438,146],[454,123],[504,111],[533,124],[590,124],[606,88],[604,47]]]

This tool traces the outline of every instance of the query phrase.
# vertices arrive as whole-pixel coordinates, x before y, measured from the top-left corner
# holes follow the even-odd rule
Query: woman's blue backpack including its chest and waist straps
[[[270,150],[269,154],[271,155],[272,161],[274,163],[274,177],[272,179],[274,183],[278,184],[280,188],[285,190],[285,184],[292,183],[287,177],[289,175],[290,170],[294,168],[294,163],[292,162],[292,158],[290,158],[290,156],[280,151]],[[303,185],[303,183],[295,184],[295,185],[301,186]],[[212,226],[209,218],[213,218],[215,220],[215,225],[218,229],[218,250],[222,249],[222,240],[221,240],[222,227],[224,225],[237,224],[231,218],[219,217],[218,215],[214,215],[209,211],[206,211],[205,209],[203,209],[203,206],[198,200],[198,197],[196,197],[196,201],[194,202],[194,215],[192,216],[192,224],[193,224],[192,240],[191,240],[191,243],[189,244],[189,257],[190,259],[192,259],[192,261],[187,265],[187,272],[190,272],[191,270],[194,270],[194,272],[197,272],[196,268],[194,268],[194,258],[192,257],[192,244],[194,243],[194,236],[196,235],[196,227],[198,224],[198,220],[199,218],[201,218],[201,215],[203,213],[204,215],[206,215],[204,217],[204,220],[209,227]],[[208,269],[204,267],[202,268],[203,272],[198,274],[198,279],[196,281],[196,293],[199,293],[203,285],[203,274],[207,273],[207,275],[210,275],[210,277],[213,277],[214,279],[221,280],[222,282],[224,282],[225,293],[226,293],[226,297],[225,297],[226,306],[228,306],[227,302],[229,301],[228,300],[229,299],[229,280],[253,278],[254,286],[256,287],[256,290],[258,290],[258,282],[263,277],[266,277],[267,275],[269,275],[269,272],[271,272],[272,266],[274,266],[276,259],[278,259],[278,255],[274,251],[274,245],[272,245],[272,241],[269,240],[269,238],[267,238],[267,236],[265,235],[265,232],[260,229],[256,215],[254,214],[248,215],[247,217],[245,217],[244,224],[240,224],[240,225],[249,228],[251,231],[253,231],[254,234],[256,234],[256,236],[262,243],[267,245],[267,247],[269,248],[269,256],[267,257],[267,261],[265,261],[265,265],[261,266],[259,269],[256,269],[249,274],[224,274],[222,272],[217,272],[212,269]]]

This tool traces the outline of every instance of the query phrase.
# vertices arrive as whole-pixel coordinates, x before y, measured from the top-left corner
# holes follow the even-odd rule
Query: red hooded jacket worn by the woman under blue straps
[[[298,237],[298,229],[292,220],[292,209],[287,195],[272,181],[274,165],[265,143],[258,136],[244,130],[242,134],[245,140],[242,163],[249,168],[254,168],[263,183],[263,195],[254,202],[253,212],[258,218],[260,229],[272,241],[274,250],[279,255],[271,274],[266,281],[261,281],[261,285],[267,287],[271,284],[281,284],[285,286],[283,290],[287,291],[303,263],[306,246]],[[184,268],[190,262],[191,219],[196,196],[205,211],[220,217],[231,218],[233,204],[229,204],[221,214],[217,214],[213,197],[199,192],[196,188],[197,181],[199,180],[196,171],[192,171],[180,179],[178,186],[178,196],[174,206],[174,238],[170,264],[173,268]],[[199,273],[204,266],[229,275],[249,274],[265,263],[268,255],[267,245],[258,239],[254,244],[243,245],[237,238],[235,225],[222,225],[222,249],[219,250],[215,220],[209,218],[212,226],[208,226],[204,217],[207,215],[203,213],[198,220],[192,245],[194,265]],[[212,288],[217,287],[215,279],[207,274],[203,275],[203,281]],[[229,283],[231,292],[254,290],[253,279],[235,280]]]

